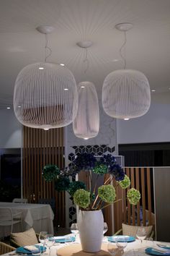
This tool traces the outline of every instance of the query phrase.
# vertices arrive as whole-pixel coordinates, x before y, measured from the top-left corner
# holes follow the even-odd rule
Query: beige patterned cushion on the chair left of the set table
[[[32,228],[24,232],[12,233],[10,236],[10,244],[14,247],[37,244],[38,235],[39,234],[35,234],[35,230]]]

